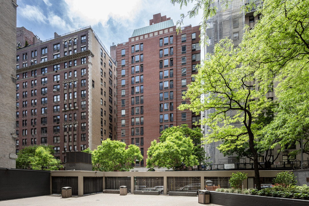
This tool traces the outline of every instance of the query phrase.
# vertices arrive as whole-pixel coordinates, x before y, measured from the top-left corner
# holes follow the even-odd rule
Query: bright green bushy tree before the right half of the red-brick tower
[[[157,143],[156,140],[151,142],[147,151],[147,168],[158,166],[159,168],[173,168],[175,171],[176,168],[182,170],[183,165],[197,165],[197,157],[193,154],[192,139],[185,137],[181,131],[170,132],[162,137],[162,142]]]

